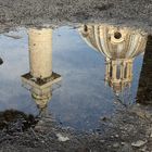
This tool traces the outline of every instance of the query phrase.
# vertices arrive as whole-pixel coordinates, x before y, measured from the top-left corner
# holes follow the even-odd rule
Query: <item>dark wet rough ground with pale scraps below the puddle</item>
[[[10,134],[1,130],[0,151],[151,152],[152,150],[152,112],[148,106],[137,104],[118,110],[114,116],[101,119],[101,128],[77,132],[72,128],[60,127],[48,115],[25,131],[14,130]]]

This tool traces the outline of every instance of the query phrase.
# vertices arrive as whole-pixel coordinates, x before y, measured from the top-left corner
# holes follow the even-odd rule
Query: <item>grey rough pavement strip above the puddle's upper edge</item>
[[[14,26],[106,22],[151,31],[151,9],[150,0],[1,0],[0,30]]]

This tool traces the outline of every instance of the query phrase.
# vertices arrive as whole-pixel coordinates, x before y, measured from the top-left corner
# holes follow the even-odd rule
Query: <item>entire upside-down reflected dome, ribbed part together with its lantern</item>
[[[84,40],[105,56],[105,81],[118,94],[130,86],[134,59],[142,53],[147,33],[112,25],[84,25],[79,28]]]

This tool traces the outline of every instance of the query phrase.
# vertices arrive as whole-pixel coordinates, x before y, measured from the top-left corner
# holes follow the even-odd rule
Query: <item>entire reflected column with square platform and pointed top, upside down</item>
[[[52,29],[30,28],[28,45],[30,72],[22,76],[22,83],[30,89],[38,107],[45,110],[52,98],[52,85],[61,80],[61,76],[52,72]]]

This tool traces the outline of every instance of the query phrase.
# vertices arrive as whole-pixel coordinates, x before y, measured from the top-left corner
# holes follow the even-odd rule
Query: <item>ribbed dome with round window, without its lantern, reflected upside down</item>
[[[109,59],[135,58],[143,52],[147,33],[112,25],[84,25],[80,34],[94,50]]]

